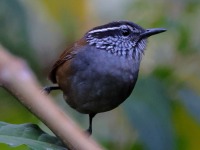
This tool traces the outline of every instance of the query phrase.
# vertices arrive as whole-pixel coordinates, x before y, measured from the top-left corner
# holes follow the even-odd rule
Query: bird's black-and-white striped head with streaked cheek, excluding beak
[[[140,34],[145,29],[128,21],[111,22],[88,31],[85,38],[89,45],[108,53],[128,58],[141,59],[146,47],[146,38]]]

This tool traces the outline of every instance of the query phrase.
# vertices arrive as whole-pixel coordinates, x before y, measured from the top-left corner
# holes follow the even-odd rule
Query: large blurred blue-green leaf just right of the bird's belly
[[[174,133],[169,97],[155,78],[140,79],[125,111],[139,140],[149,150],[174,149]]]

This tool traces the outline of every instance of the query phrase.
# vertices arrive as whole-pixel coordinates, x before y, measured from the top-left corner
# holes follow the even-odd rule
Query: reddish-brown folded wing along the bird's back
[[[85,46],[86,43],[87,43],[86,40],[82,38],[78,42],[75,42],[72,46],[67,47],[66,50],[60,55],[59,59],[53,65],[48,76],[53,83],[57,83],[56,71],[58,67],[64,64],[65,62],[71,60],[73,57],[75,57],[78,51],[81,50],[80,47]]]

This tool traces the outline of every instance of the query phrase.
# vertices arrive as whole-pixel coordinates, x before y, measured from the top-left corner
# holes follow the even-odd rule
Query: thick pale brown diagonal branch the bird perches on
[[[100,150],[73,120],[41,93],[41,86],[26,63],[0,45],[0,86],[13,94],[72,150]]]

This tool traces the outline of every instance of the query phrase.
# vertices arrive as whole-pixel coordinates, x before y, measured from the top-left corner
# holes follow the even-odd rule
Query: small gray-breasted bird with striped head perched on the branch
[[[49,73],[57,85],[44,90],[60,89],[72,108],[89,114],[92,134],[93,117],[119,106],[134,89],[147,38],[165,31],[129,21],[97,26],[61,54]]]

